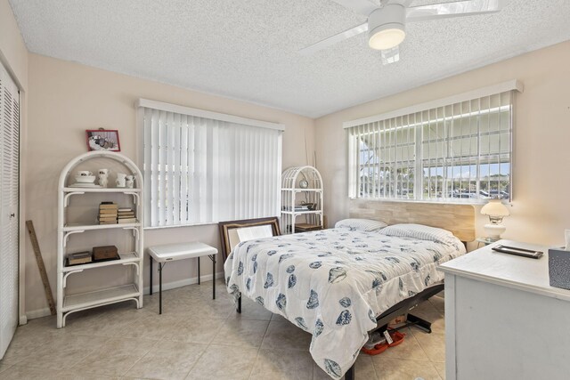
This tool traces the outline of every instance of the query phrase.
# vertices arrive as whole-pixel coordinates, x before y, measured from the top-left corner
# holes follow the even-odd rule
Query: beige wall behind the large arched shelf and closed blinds
[[[26,219],[31,219],[36,225],[37,238],[53,287],[56,284],[56,189],[61,169],[69,159],[86,151],[85,129],[98,127],[118,129],[122,153],[136,159],[134,101],[138,98],[282,123],[286,128],[283,134],[283,168],[305,165],[305,136],[309,157],[313,156],[314,120],[308,117],[32,53],[29,54],[28,75]],[[217,225],[147,230],[144,239],[146,247],[189,240],[200,240],[219,247]],[[28,241],[26,252],[26,311],[34,317],[38,315],[38,310],[45,309],[46,303]],[[222,271],[221,260],[218,271]],[[202,274],[208,273],[211,273],[211,266],[205,260]],[[109,274],[120,276],[113,271],[109,271]],[[196,276],[196,265],[189,260],[170,264],[164,274],[165,282],[189,279]],[[145,286],[148,287],[148,271],[144,275]],[[91,283],[95,280],[93,276],[87,274],[81,279]]]

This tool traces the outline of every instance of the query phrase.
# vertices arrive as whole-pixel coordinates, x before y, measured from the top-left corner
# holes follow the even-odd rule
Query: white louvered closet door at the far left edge
[[[0,64],[0,359],[18,326],[20,94]]]

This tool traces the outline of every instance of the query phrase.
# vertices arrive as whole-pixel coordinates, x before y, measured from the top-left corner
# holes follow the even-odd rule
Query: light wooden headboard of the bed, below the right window
[[[475,240],[475,207],[471,205],[351,199],[349,215],[387,224],[425,224],[449,230],[461,241]]]

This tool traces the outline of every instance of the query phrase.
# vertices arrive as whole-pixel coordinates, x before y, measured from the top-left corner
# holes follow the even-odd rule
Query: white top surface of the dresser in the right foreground
[[[544,252],[540,259],[502,254],[491,248],[497,245],[520,247]],[[512,287],[570,302],[570,290],[550,287],[549,247],[499,240],[476,249],[438,267],[439,271],[468,279]],[[570,255],[570,253],[568,253]],[[569,274],[570,275],[570,274]]]

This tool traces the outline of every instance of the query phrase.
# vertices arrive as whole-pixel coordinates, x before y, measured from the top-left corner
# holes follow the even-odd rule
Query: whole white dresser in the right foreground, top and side
[[[501,254],[498,244],[544,255]],[[500,240],[439,267],[447,380],[570,378],[570,290],[550,287],[548,261],[548,247]]]

